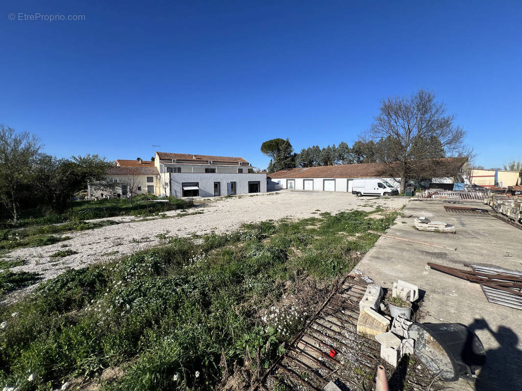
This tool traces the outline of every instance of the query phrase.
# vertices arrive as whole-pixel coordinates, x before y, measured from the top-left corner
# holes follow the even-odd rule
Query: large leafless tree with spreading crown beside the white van
[[[471,153],[464,145],[466,132],[454,121],[455,116],[446,114],[445,105],[435,101],[433,92],[419,90],[410,97],[388,97],[381,102],[368,135],[378,143],[378,160],[388,163],[390,174],[400,177],[401,192],[407,177],[425,166],[422,160]]]

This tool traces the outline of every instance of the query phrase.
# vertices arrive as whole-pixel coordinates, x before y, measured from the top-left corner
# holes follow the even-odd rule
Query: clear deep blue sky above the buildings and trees
[[[351,144],[381,99],[425,88],[501,166],[522,157],[521,25],[520,0],[4,0],[0,123],[57,156],[157,144],[264,168],[265,140]]]

